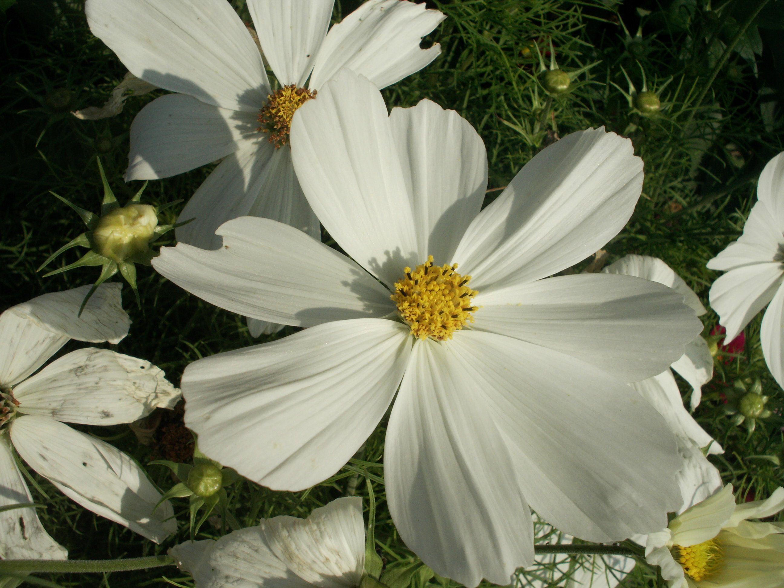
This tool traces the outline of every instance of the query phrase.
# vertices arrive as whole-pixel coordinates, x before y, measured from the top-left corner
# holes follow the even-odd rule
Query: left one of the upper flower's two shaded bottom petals
[[[270,143],[262,141],[223,159],[180,212],[178,223],[193,220],[176,228],[177,241],[201,249],[220,249],[216,230],[227,220],[248,214],[261,191],[270,187],[280,158]]]

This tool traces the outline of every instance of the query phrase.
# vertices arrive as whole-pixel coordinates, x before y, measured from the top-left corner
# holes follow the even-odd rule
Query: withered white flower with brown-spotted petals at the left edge
[[[130,320],[119,284],[44,294],[0,314],[0,506],[32,503],[12,445],[38,474],[102,517],[160,542],[176,531],[172,506],[152,510],[161,494],[125,453],[65,423],[130,423],[171,408],[180,390],[148,361],[89,347],[36,372],[69,339],[119,343]],[[168,519],[168,520],[167,520]],[[64,559],[35,509],[0,512],[0,557]]]

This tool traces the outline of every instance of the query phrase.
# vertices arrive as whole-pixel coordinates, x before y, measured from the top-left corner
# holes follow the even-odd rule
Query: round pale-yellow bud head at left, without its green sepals
[[[153,206],[130,204],[102,216],[93,230],[93,240],[100,255],[122,263],[147,251],[155,227],[158,216]]]

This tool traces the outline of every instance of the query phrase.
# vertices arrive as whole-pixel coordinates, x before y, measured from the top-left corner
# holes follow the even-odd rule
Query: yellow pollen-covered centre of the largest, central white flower
[[[395,293],[390,298],[397,305],[401,317],[419,339],[432,337],[439,341],[452,339],[452,333],[474,322],[471,298],[476,290],[468,287],[470,276],[461,276],[455,270],[457,263],[433,265],[433,256],[411,270],[394,284]]]

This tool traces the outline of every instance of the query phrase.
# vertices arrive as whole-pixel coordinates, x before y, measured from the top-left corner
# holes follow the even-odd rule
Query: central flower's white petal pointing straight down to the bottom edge
[[[461,343],[414,346],[387,426],[387,501],[401,539],[434,572],[506,585],[533,560],[531,514],[477,394],[488,383]]]

